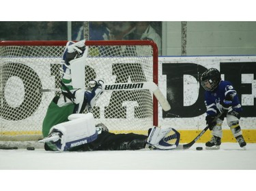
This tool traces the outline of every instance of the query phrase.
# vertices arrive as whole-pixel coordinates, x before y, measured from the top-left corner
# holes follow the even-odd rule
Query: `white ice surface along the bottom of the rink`
[[[195,148],[202,146],[203,150]],[[256,170],[256,143],[247,150],[238,143],[222,143],[221,150],[205,150],[195,143],[188,150],[47,152],[0,150],[0,169],[16,170]]]

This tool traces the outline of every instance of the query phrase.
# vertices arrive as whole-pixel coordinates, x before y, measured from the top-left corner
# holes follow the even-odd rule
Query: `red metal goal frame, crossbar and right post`
[[[0,48],[3,46],[66,46],[67,41],[0,41]],[[153,56],[153,82],[158,84],[158,48],[154,41],[129,40],[129,41],[85,41],[86,46],[152,46]],[[1,56],[1,55],[0,55]],[[1,58],[1,57],[0,57]],[[2,85],[1,85],[2,86]],[[2,87],[1,87],[2,89]],[[3,94],[3,90],[1,90]],[[158,102],[153,97],[153,125],[158,126]],[[25,132],[24,134],[26,134]],[[1,135],[1,134],[0,134]],[[12,136],[12,133],[10,134]],[[1,136],[0,136],[1,139]]]

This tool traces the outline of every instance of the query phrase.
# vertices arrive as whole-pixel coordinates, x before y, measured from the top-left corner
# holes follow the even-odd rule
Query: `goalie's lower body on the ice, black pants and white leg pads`
[[[91,150],[173,150],[180,141],[180,133],[173,128],[154,126],[149,136],[134,133],[110,133],[104,124],[95,125],[94,116],[72,114],[68,122],[53,126],[48,137],[40,140],[46,150],[91,151]]]

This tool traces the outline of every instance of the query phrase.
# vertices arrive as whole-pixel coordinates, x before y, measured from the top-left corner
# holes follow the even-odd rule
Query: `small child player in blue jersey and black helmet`
[[[221,80],[221,73],[217,69],[211,68],[201,75],[201,86],[205,89],[207,108],[205,120],[212,131],[212,139],[205,143],[206,149],[218,150],[220,148],[224,118],[227,118],[227,124],[240,147],[245,149],[246,142],[239,124],[242,107],[231,82]],[[221,116],[214,120],[220,113]]]

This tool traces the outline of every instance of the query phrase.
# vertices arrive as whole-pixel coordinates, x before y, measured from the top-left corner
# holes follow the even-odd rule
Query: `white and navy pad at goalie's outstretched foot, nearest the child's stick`
[[[174,133],[174,134],[173,134]],[[171,140],[175,140],[172,144]],[[147,145],[154,150],[173,150],[180,143],[180,133],[174,128],[160,128],[154,126],[147,138]]]

